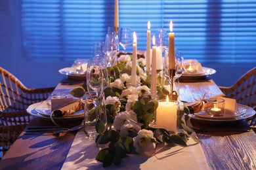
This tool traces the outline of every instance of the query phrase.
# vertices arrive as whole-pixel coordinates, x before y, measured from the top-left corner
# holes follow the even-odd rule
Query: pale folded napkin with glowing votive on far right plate
[[[182,67],[185,73],[203,73],[202,65],[196,59],[184,59]]]

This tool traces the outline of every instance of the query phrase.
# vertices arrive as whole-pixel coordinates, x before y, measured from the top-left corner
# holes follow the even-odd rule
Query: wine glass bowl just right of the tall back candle
[[[123,47],[123,50],[126,50],[127,46],[131,45],[131,28],[122,27],[120,30],[120,42],[119,44]]]

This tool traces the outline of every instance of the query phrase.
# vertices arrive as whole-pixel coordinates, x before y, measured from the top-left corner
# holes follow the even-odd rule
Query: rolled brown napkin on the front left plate
[[[72,103],[62,105],[62,107],[59,107],[58,109],[54,109],[53,115],[56,117],[64,117],[64,116],[73,114],[74,112],[78,112],[79,110],[83,110],[84,108],[85,108],[85,101],[83,100],[74,101]]]

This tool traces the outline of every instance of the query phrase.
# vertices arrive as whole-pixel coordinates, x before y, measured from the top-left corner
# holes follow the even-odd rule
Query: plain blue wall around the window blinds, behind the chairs
[[[0,67],[10,71],[28,88],[56,86],[64,77],[58,73],[58,70],[70,67],[72,61],[39,62],[22,58],[19,3],[16,0],[0,1]],[[246,71],[255,67],[253,64],[203,66],[217,70],[217,73],[211,77],[219,86],[231,86]]]

